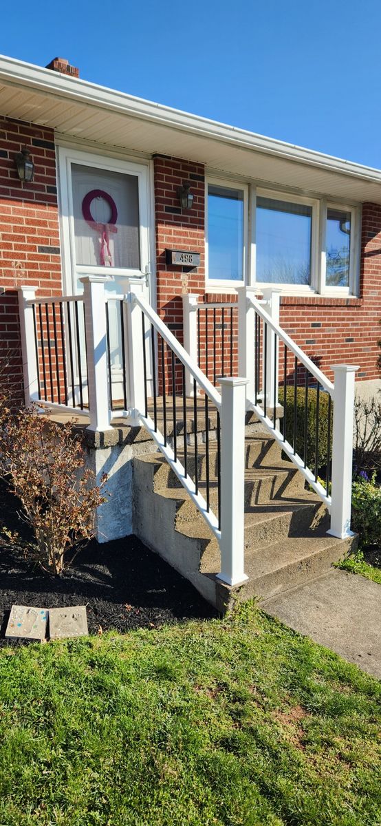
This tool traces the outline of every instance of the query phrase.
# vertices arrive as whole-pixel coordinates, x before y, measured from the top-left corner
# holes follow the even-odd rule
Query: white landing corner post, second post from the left
[[[83,284],[87,352],[87,390],[90,425],[87,430],[112,430],[111,400],[107,376],[107,335],[105,284],[98,275],[85,275]]]

